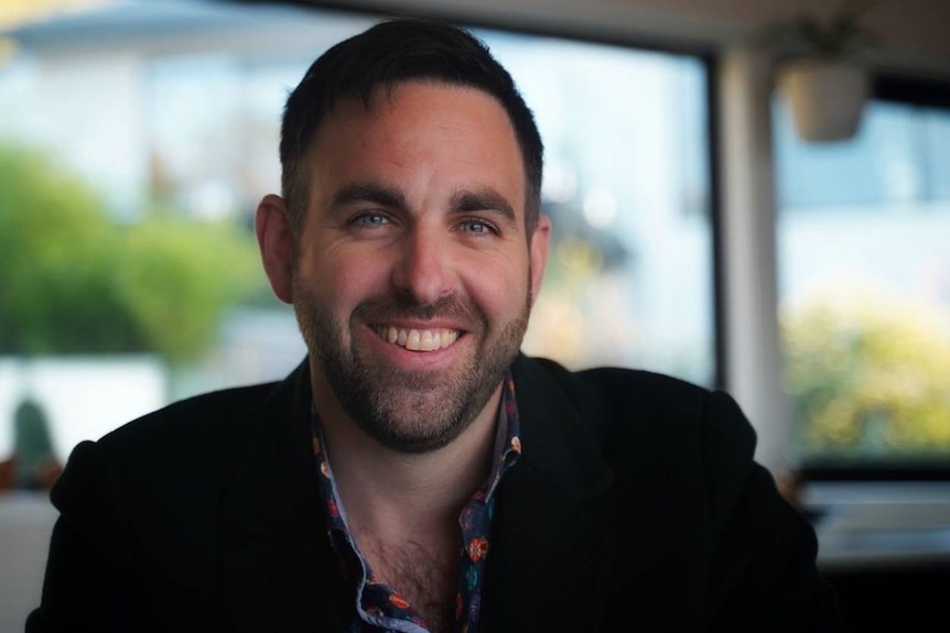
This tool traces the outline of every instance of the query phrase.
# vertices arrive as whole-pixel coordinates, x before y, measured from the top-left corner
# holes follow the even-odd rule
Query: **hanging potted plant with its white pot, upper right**
[[[864,11],[842,7],[827,23],[801,18],[778,28],[778,87],[799,137],[808,141],[852,138],[861,125],[871,78],[861,58],[873,36],[859,25]]]

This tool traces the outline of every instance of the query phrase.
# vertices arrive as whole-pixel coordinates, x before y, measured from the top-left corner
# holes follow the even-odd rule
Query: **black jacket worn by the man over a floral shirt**
[[[522,456],[497,490],[488,633],[841,631],[811,525],[733,400],[652,373],[512,368]],[[306,363],[83,443],[28,633],[344,631]]]

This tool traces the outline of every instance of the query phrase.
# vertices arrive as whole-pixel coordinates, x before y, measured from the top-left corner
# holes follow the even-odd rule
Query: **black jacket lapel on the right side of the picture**
[[[577,399],[536,361],[519,357],[514,373],[522,455],[498,488],[484,629],[592,630],[616,543],[613,476]]]

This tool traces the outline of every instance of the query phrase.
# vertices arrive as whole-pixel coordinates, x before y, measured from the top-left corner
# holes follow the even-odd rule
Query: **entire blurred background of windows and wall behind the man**
[[[288,92],[391,12],[472,28],[536,112],[525,351],[730,391],[854,629],[936,608],[950,2],[0,0],[0,631],[39,600],[76,443],[303,359],[253,212]]]

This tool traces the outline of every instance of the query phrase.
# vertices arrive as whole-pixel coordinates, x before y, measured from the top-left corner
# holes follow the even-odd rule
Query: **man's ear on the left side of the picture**
[[[277,298],[292,303],[293,230],[283,198],[269,194],[257,206],[255,218],[260,259]]]

